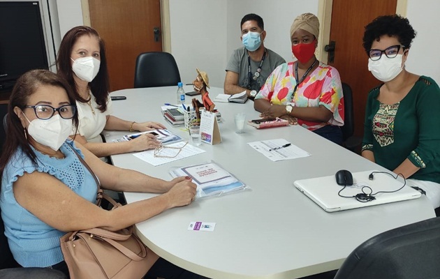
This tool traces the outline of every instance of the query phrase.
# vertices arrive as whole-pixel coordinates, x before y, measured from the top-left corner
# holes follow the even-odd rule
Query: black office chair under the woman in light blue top
[[[1,209],[0,209],[1,213]],[[21,267],[9,250],[5,227],[0,218],[0,279],[67,279],[61,271],[38,267]]]

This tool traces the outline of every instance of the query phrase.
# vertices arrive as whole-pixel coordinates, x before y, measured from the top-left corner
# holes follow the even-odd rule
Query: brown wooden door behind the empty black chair
[[[138,54],[162,51],[160,0],[89,0],[89,13],[105,41],[110,91],[133,88]]]

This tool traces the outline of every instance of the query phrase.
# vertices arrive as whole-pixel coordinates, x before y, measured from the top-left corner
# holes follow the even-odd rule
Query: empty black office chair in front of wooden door
[[[173,86],[180,82],[179,68],[168,52],[145,52],[136,59],[134,88]]]

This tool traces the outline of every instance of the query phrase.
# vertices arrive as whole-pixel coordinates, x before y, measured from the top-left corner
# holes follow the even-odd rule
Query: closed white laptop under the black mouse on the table
[[[359,202],[351,196],[362,193],[363,186],[369,186],[372,188],[372,193],[376,193],[379,191],[394,191],[404,185],[401,177],[394,179],[393,176],[383,173],[375,173],[374,178],[369,180],[369,174],[372,172],[379,171],[353,172],[353,186],[346,186],[340,193],[347,197],[339,197],[338,192],[344,188],[344,186],[339,186],[336,183],[335,175],[297,180],[294,182],[294,185],[298,190],[328,212],[399,202],[406,199],[416,199],[421,195],[418,190],[414,190],[410,186],[404,186],[404,188],[395,193],[378,193],[374,195],[376,199],[371,202]],[[390,172],[390,174],[393,173]],[[364,190],[365,193],[369,193],[368,189],[365,188]]]

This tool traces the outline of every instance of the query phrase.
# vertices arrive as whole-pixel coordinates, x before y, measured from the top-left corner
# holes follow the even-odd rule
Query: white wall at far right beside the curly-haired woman
[[[409,51],[406,69],[416,75],[427,75],[440,83],[440,1],[408,0],[406,17],[417,32]]]

